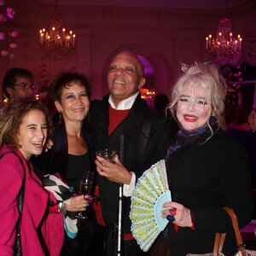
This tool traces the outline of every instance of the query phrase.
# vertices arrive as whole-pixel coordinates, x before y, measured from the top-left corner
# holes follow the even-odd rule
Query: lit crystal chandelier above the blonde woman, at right
[[[216,38],[207,38],[207,55],[210,60],[223,67],[236,66],[241,56],[241,36],[233,37],[232,22],[228,18],[219,20]]]

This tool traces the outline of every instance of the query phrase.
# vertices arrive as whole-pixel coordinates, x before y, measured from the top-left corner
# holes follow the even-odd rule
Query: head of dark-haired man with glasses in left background
[[[8,70],[3,78],[3,94],[13,101],[20,97],[33,96],[36,89],[33,84],[33,76],[30,71],[21,67],[14,67]]]

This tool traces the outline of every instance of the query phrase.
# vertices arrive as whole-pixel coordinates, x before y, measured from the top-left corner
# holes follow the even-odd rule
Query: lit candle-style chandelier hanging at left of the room
[[[70,55],[75,46],[76,35],[73,31],[66,32],[63,20],[57,14],[57,1],[55,0],[55,15],[50,21],[49,32],[43,28],[40,32],[40,46],[45,58],[52,60]]]

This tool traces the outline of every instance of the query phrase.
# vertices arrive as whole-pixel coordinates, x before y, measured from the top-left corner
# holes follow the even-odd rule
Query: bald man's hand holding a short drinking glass
[[[114,163],[105,160],[104,158],[96,155],[96,170],[99,175],[107,177],[110,181],[115,183],[130,184],[131,172],[129,172],[125,166],[119,160],[118,155],[114,157]]]

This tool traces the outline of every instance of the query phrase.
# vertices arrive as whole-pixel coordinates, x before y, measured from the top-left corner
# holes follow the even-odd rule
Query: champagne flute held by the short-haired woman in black
[[[90,195],[93,183],[93,174],[94,173],[90,171],[84,172],[84,176],[82,177],[79,184],[79,195]],[[88,209],[85,209],[84,212],[77,212],[75,217],[79,219],[88,218]]]

